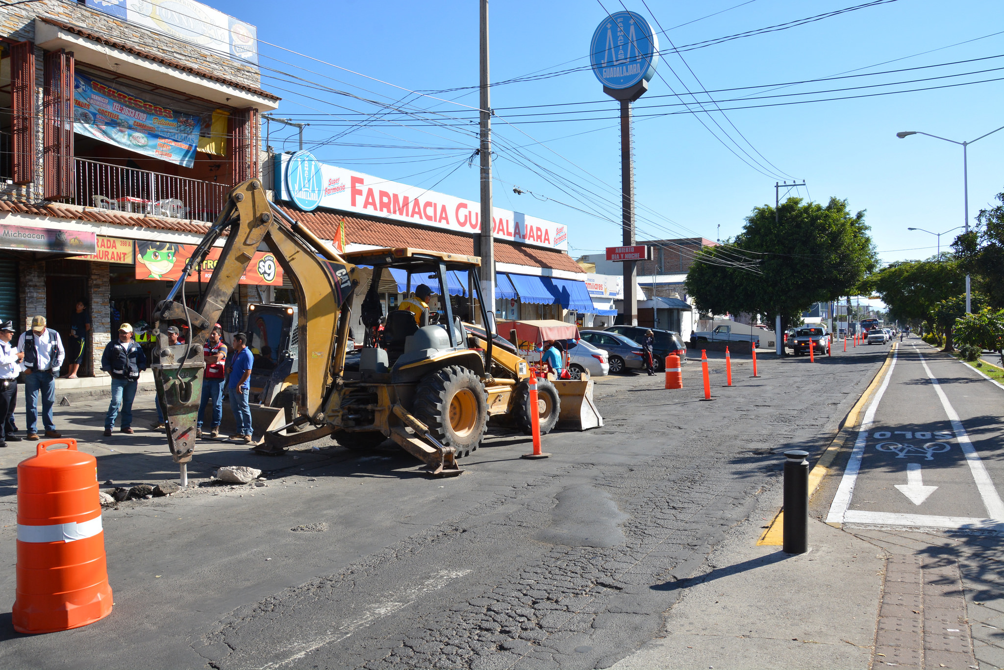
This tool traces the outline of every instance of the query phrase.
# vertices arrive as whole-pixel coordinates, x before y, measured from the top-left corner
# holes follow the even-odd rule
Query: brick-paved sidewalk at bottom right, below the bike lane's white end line
[[[847,528],[889,551],[872,668],[1004,667],[1004,540]]]

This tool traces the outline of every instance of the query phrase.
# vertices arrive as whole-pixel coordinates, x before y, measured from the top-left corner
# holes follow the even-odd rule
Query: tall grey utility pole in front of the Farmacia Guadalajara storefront
[[[492,221],[492,107],[488,78],[488,0],[481,0],[481,230],[474,237],[474,255],[481,256],[481,294],[485,309],[495,311],[495,248]],[[488,325],[487,323],[485,324]]]

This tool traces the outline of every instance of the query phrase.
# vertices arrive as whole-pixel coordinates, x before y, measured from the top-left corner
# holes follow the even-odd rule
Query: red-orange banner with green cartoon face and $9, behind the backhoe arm
[[[136,278],[137,279],[160,279],[165,281],[177,281],[182,276],[185,263],[195,252],[194,244],[174,244],[172,242],[146,242],[136,243]],[[216,263],[220,259],[220,252],[223,247],[214,247],[202,262],[199,273],[190,274],[186,281],[199,281],[199,274],[202,274],[202,281],[209,283],[216,269]],[[241,275],[242,284],[258,284],[260,286],[281,286],[282,268],[275,260],[275,254],[267,251],[255,253],[247,269]]]

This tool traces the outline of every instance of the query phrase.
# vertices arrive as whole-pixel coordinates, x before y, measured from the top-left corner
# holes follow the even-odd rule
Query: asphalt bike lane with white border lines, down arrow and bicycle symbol
[[[827,520],[1004,530],[1004,389],[918,339],[870,401]]]

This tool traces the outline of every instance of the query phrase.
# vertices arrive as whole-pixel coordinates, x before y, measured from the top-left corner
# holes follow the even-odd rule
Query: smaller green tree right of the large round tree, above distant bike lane
[[[904,260],[872,273],[863,282],[867,292],[876,292],[889,306],[890,318],[925,320],[933,329],[936,303],[966,289],[959,261],[943,253],[928,260]]]

